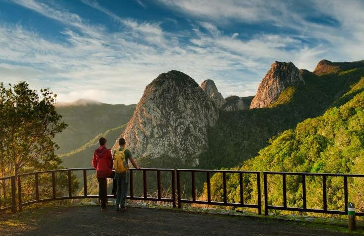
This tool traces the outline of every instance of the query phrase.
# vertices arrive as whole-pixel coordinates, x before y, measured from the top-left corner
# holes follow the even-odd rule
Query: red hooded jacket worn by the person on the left
[[[93,152],[92,166],[96,169],[96,177],[106,178],[112,174],[114,165],[111,150],[101,146]]]

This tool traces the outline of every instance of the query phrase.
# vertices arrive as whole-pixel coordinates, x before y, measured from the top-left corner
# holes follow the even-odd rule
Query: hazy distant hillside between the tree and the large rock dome
[[[111,105],[89,100],[57,104],[56,109],[63,116],[68,127],[55,137],[60,146],[57,154],[77,149],[99,133],[118,127],[132,117],[136,105]],[[115,139],[109,140],[110,145]]]

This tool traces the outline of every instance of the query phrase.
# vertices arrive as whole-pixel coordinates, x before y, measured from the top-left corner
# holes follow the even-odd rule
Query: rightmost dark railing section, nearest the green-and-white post
[[[283,206],[272,206],[268,205],[268,175],[280,175],[282,176],[282,186],[283,186]],[[287,206],[287,176],[301,176],[302,177],[302,207],[289,207]],[[306,199],[306,177],[307,176],[318,176],[322,177],[322,209],[307,208]],[[344,182],[344,211],[340,210],[329,210],[327,209],[327,184],[326,177],[343,177]],[[364,177],[364,175],[356,174],[327,174],[327,173],[294,173],[294,172],[263,172],[263,182],[264,182],[264,206],[265,215],[268,215],[268,210],[283,210],[283,211],[299,211],[299,212],[313,212],[313,213],[326,213],[335,215],[346,215],[348,214],[348,177]],[[357,212],[356,215],[364,216],[364,212]]]

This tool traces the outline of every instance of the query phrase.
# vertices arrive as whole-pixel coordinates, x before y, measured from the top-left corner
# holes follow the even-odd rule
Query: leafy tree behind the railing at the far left
[[[56,133],[67,127],[55,110],[56,94],[29,88],[19,82],[6,88],[0,83],[0,177],[58,169]]]

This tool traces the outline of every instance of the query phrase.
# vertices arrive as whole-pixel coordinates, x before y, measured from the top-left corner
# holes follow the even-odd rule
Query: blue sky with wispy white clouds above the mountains
[[[0,82],[138,103],[171,69],[226,97],[271,64],[364,59],[364,0],[0,0]]]

